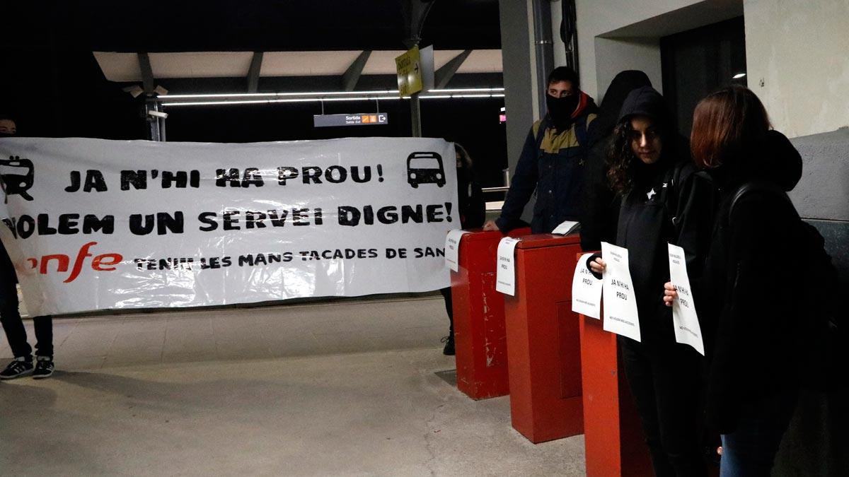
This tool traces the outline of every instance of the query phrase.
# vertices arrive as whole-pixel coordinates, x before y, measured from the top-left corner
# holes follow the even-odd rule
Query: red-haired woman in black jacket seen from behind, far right
[[[704,277],[691,283],[706,337],[708,425],[722,435],[722,476],[768,475],[796,408],[807,349],[794,276],[802,269],[794,262],[800,221],[780,193],[801,178],[801,156],[770,130],[766,109],[745,87],[722,89],[696,106],[691,142],[719,207]],[[731,214],[746,182],[772,190],[742,195]],[[671,303],[672,283],[665,293]]]

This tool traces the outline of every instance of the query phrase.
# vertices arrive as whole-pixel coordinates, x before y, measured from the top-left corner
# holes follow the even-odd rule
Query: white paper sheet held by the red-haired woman
[[[693,346],[701,356],[705,356],[705,343],[701,338],[699,317],[695,314],[693,293],[690,291],[687,261],[684,250],[678,245],[669,245],[669,278],[678,298],[672,301],[672,323],[675,324],[675,340],[678,343]]]

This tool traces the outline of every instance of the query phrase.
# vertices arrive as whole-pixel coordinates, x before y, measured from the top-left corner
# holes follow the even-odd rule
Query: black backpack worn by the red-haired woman
[[[807,340],[807,351],[801,357],[801,385],[810,390],[834,391],[846,386],[847,339],[849,323],[841,311],[840,276],[831,256],[825,250],[825,240],[816,227],[803,221],[787,194],[771,183],[746,182],[731,199],[729,220],[734,205],[752,191],[774,194],[790,204],[795,216],[788,237],[798,244],[799,255],[790,263],[798,269],[799,288],[803,309],[807,310],[800,326],[800,340]]]

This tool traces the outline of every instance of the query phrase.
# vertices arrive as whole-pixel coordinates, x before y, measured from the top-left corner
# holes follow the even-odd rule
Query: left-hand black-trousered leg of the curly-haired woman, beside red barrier
[[[655,379],[649,357],[645,355],[640,343],[627,338],[619,338],[622,364],[625,377],[634,398],[646,444],[649,446],[651,463],[658,477],[674,476],[675,471],[666,457],[661,444],[661,430],[658,423],[657,401],[655,398]]]

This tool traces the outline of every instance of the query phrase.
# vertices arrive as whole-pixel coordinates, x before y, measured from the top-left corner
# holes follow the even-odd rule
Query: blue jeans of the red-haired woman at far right
[[[737,429],[722,435],[719,477],[768,477],[798,397],[785,390],[745,404]]]

